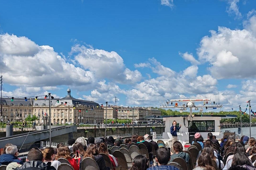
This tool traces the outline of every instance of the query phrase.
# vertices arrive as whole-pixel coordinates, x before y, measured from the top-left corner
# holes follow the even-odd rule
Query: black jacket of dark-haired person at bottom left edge
[[[56,170],[53,166],[51,166],[50,163],[46,165],[42,161],[28,161],[25,162],[21,167],[16,168],[15,170]]]

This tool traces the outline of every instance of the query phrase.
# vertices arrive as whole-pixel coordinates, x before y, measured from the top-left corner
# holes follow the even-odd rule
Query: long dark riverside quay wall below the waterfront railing
[[[153,130],[154,132],[156,132],[156,134],[162,134],[164,132],[165,126],[157,126],[157,127],[134,127],[134,133],[137,133],[139,135],[144,135],[144,134],[150,134],[151,130]],[[27,133],[29,131],[13,131],[13,135],[15,134],[21,134],[21,133]],[[111,135],[121,135],[121,136],[125,136],[126,134],[132,134],[132,127],[111,127],[111,128],[107,128],[107,136],[111,136]],[[78,128],[77,132],[72,132],[72,133],[66,133],[60,136],[56,136],[56,137],[52,137],[52,142],[64,142],[64,141],[68,141],[68,139],[70,138],[78,138],[78,137],[99,137],[99,136],[104,136],[105,135],[105,128],[98,128],[96,126],[96,128],[86,128],[86,127],[82,127],[82,128]],[[6,136],[6,132],[2,131],[0,132],[0,138],[1,137],[5,137]],[[44,141],[44,140],[43,140]],[[46,140],[45,140],[46,141]],[[49,140],[48,140],[49,141]],[[35,143],[38,143],[39,141],[35,141]]]

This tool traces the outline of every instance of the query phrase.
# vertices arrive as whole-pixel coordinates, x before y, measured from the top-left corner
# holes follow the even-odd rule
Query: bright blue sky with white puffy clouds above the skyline
[[[75,98],[114,104],[117,96],[123,106],[215,96],[223,109],[253,105],[254,7],[254,0],[1,1],[3,93],[64,97],[70,86]]]

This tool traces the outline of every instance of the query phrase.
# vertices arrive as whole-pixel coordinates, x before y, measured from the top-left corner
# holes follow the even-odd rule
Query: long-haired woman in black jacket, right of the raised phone
[[[87,147],[85,154],[84,154],[84,158],[86,158],[86,157],[93,158],[97,162],[100,170],[110,170],[110,167],[106,167],[103,156],[99,155],[99,151],[98,151],[98,148],[96,145],[90,144]],[[81,164],[81,161],[80,161],[80,164]],[[81,167],[81,165],[80,165],[80,167]]]

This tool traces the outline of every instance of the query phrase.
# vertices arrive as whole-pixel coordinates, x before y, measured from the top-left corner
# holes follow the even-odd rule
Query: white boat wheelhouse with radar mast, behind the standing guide
[[[207,134],[211,132],[213,135],[216,136],[216,139],[221,139],[223,137],[223,134],[220,130],[220,120],[221,119],[231,119],[236,118],[236,115],[203,115],[202,112],[203,109],[216,109],[216,108],[222,108],[222,105],[217,105],[215,102],[212,105],[208,101],[210,99],[178,99],[178,100],[166,100],[166,105],[161,106],[160,108],[180,108],[180,113],[182,113],[184,110],[187,110],[187,108],[190,109],[189,115],[176,115],[176,116],[151,116],[146,117],[146,119],[150,120],[163,120],[165,122],[165,132],[163,132],[161,140],[163,140],[167,145],[171,146],[171,138],[172,135],[170,133],[170,128],[172,126],[173,121],[177,122],[177,127],[181,125],[181,128],[177,130],[177,137],[178,141],[180,141],[184,146],[188,143],[191,143],[191,141],[194,138],[194,134],[196,132],[199,132],[202,137],[206,140]],[[174,106],[173,102],[180,102],[181,104],[178,106],[178,103],[175,103]],[[185,102],[185,104],[182,104],[182,102]],[[204,102],[204,105],[196,106],[195,102]],[[171,106],[169,104],[171,103]],[[198,114],[192,115],[193,109],[198,110]],[[155,137],[155,136],[154,136]]]

